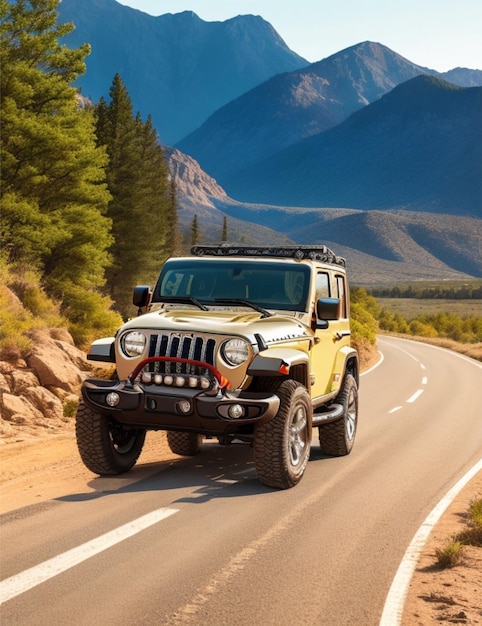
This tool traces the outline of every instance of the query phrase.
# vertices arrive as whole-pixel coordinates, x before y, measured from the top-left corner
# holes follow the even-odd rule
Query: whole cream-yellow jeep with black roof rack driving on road
[[[348,454],[358,419],[345,260],[326,246],[196,246],[139,286],[139,315],[88,358],[116,379],[87,379],[76,417],[85,465],[118,474],[147,430],[195,455],[205,437],[248,442],[258,478],[286,489],[323,453]]]

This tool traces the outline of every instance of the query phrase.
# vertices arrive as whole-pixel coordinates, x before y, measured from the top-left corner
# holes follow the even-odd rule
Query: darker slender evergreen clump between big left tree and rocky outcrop
[[[97,137],[109,155],[107,183],[112,200],[114,243],[107,290],[124,317],[132,314],[136,283],[152,283],[173,245],[168,171],[151,119],[133,117],[132,102],[119,75],[110,103],[97,107]],[[174,222],[175,223],[175,222]]]

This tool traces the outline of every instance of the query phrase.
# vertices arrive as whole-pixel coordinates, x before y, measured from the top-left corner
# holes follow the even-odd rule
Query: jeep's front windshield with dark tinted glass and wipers
[[[308,310],[310,268],[303,264],[234,259],[171,259],[164,264],[152,302]],[[171,299],[172,298],[172,299]],[[244,301],[244,302],[243,302]]]

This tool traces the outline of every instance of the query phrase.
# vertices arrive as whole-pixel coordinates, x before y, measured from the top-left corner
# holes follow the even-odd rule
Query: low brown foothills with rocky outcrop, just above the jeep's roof
[[[166,149],[181,230],[196,214],[203,241],[326,243],[346,256],[357,284],[482,277],[482,219],[414,211],[243,204],[229,198],[191,157]],[[273,227],[276,229],[274,230]]]

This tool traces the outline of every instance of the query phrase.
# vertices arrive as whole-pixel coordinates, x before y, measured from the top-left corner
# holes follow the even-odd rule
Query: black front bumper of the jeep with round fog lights
[[[94,378],[84,381],[82,396],[92,410],[120,424],[214,435],[269,420],[278,412],[280,402],[278,396],[268,392],[226,389],[206,392]],[[186,401],[189,402],[188,410]],[[230,416],[234,405],[234,413],[241,407],[243,414],[240,417]]]

